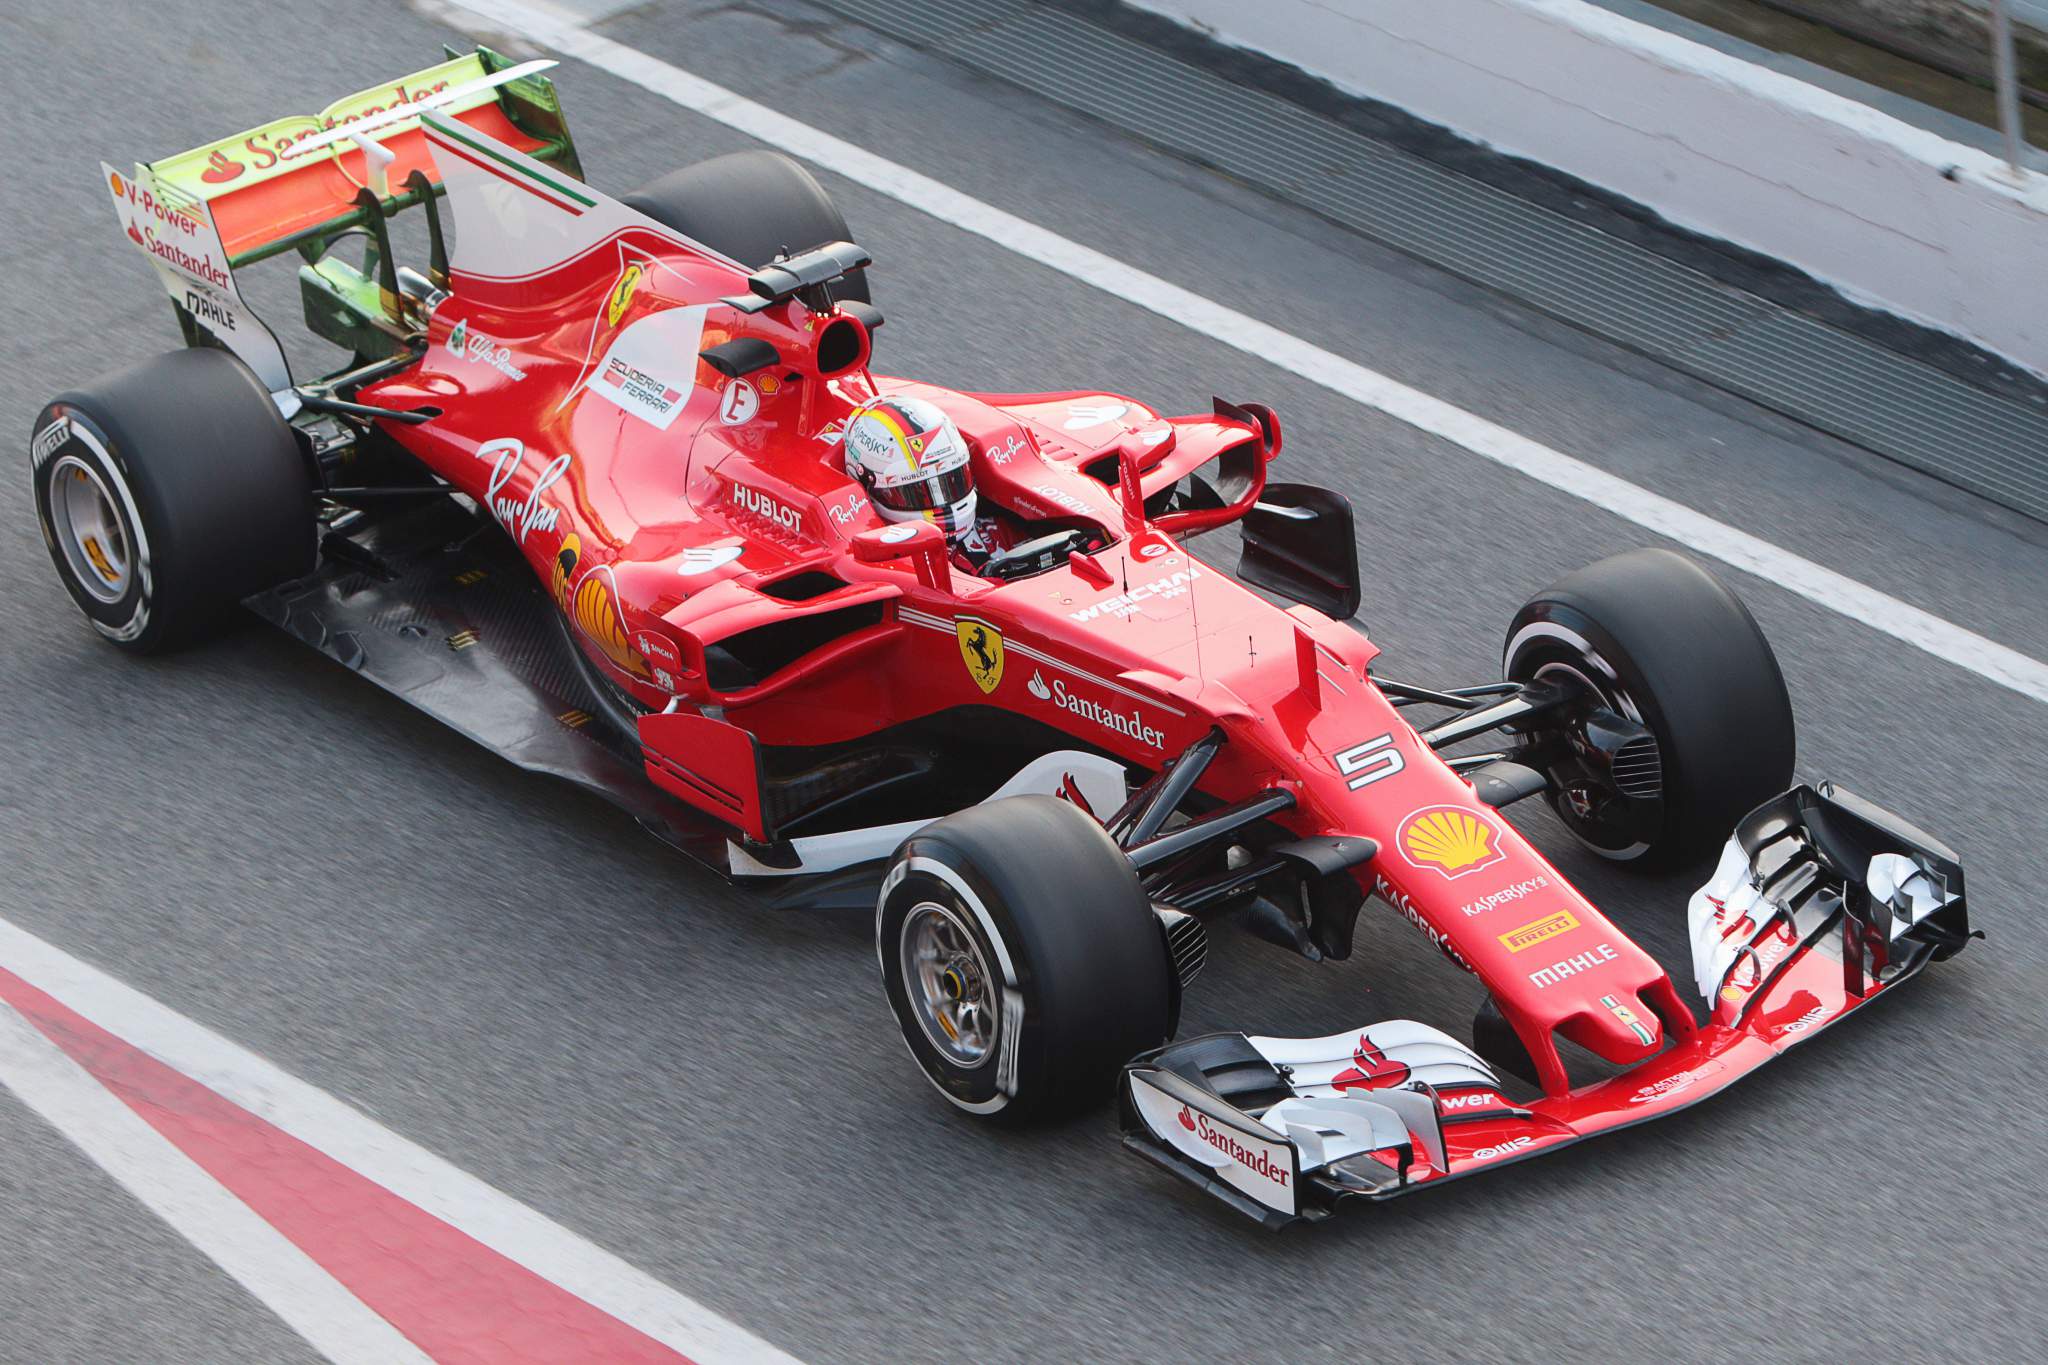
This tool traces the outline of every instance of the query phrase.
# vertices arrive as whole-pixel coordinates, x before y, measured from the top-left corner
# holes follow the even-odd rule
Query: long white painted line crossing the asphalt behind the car
[[[1901,602],[1843,573],[1835,573],[1769,540],[1716,522],[1683,503],[1618,479],[1604,469],[1595,469],[1585,460],[1575,460],[1538,440],[1454,407],[1421,389],[1411,389],[1378,370],[1370,370],[1298,336],[1229,309],[1214,299],[1204,299],[1188,289],[1169,284],[1155,274],[1137,270],[1079,241],[1069,241],[1036,223],[1004,213],[995,205],[987,205],[907,166],[856,147],[842,137],[778,115],[659,57],[649,57],[625,43],[578,29],[573,23],[565,23],[520,0],[467,0],[461,6],[446,4],[436,8],[449,23],[457,23],[461,12],[467,10],[483,25],[510,29],[535,43],[545,43],[563,55],[610,72],[651,94],[659,94],[672,104],[748,133],[791,156],[815,162],[825,170],[856,180],[868,190],[897,199],[963,231],[987,237],[1018,256],[1135,303],[1190,332],[1223,342],[1253,358],[1270,360],[1282,370],[1323,385],[1331,393],[1464,446],[1473,454],[1548,483],[1604,512],[1677,540],[1700,555],[1753,573],[1872,630],[1880,630],[1978,677],[1987,677],[2001,688],[2011,688],[2036,702],[2048,702],[2048,663],[2040,659],[1999,645],[1989,636],[1966,630],[1952,620]]]

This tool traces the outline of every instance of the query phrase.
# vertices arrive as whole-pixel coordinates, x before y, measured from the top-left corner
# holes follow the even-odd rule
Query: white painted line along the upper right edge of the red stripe
[[[115,980],[106,972],[80,962],[61,948],[45,943],[6,919],[0,919],[0,966],[27,980],[31,986],[55,997],[59,1003],[78,1011],[109,1033],[125,1040],[129,1046],[139,1048],[166,1066],[184,1072],[193,1081],[199,1081],[250,1113],[276,1124],[299,1142],[326,1152],[344,1166],[350,1166],[358,1175],[383,1185],[393,1195],[426,1209],[451,1228],[469,1234],[498,1254],[524,1265],[528,1271],[561,1285],[592,1308],[618,1318],[627,1326],[645,1332],[682,1355],[705,1365],[717,1365],[723,1361],[797,1365],[795,1357],[776,1351],[760,1336],[754,1336],[735,1322],[727,1322],[696,1300],[670,1289],[596,1242],[590,1242],[569,1228],[537,1214],[512,1195],[485,1185],[467,1171],[442,1160],[414,1142],[408,1142],[377,1119],[350,1109],[326,1091],[299,1081],[254,1052],[221,1038],[193,1019],[186,1019],[166,1005],[160,1005],[133,986]],[[0,1007],[0,1013],[8,1015],[14,1025],[29,1029],[31,1033],[35,1031],[33,1025],[23,1021],[10,1009]],[[37,1036],[37,1040],[47,1046],[47,1040],[41,1040],[41,1036]],[[0,1058],[8,1058],[14,1050],[12,1031],[0,1036]],[[14,1070],[20,1068],[8,1066],[8,1072],[0,1076],[6,1078],[8,1087],[14,1087],[16,1083],[16,1076],[12,1074]],[[35,1085],[37,1074],[29,1074],[29,1083]],[[94,1089],[100,1089],[96,1081],[92,1081],[92,1085]],[[98,1138],[96,1134],[131,1132],[131,1126],[127,1126],[125,1119],[141,1124],[141,1119],[113,1095],[104,1095],[104,1105],[94,1105],[92,1113],[78,1107],[74,1126],[66,1128],[66,1134],[80,1146],[86,1146],[88,1152],[92,1150],[88,1140],[115,1140]],[[78,1103],[82,1105],[84,1101]],[[74,1128],[78,1132],[74,1132]],[[147,1128],[147,1124],[143,1124],[143,1128]],[[156,1134],[152,1130],[152,1138]],[[96,1152],[94,1160],[100,1160]],[[100,1160],[100,1164],[109,1162]],[[109,1166],[109,1171],[117,1169]],[[117,1171],[117,1175],[121,1175],[121,1171]],[[123,1183],[129,1183],[125,1175],[121,1175],[121,1179]],[[147,1199],[147,1195],[143,1197]],[[197,1199],[197,1195],[188,1191],[184,1197]],[[246,1205],[233,1201],[231,1195],[225,1197],[248,1214]],[[152,1207],[158,1205],[152,1203]],[[199,1205],[195,1203],[190,1207]],[[254,1218],[254,1214],[248,1216]],[[209,1220],[213,1216],[207,1214],[205,1218],[199,1218],[184,1216],[180,1212],[178,1218],[172,1218],[172,1214],[164,1214],[164,1218],[178,1228],[180,1234],[201,1242],[201,1236],[207,1236],[207,1228],[211,1226]],[[264,1224],[264,1228],[268,1228],[268,1224]],[[254,1234],[246,1230],[238,1234],[238,1238],[254,1246],[250,1240],[252,1236]],[[283,1242],[283,1238],[279,1238],[279,1242],[283,1244],[283,1250],[301,1254],[289,1242]],[[229,1267],[229,1261],[225,1261],[213,1246],[207,1246],[205,1242],[201,1242],[201,1246],[209,1257],[219,1261],[223,1267]],[[236,1254],[236,1250],[229,1246],[227,1254]],[[283,1263],[283,1252],[276,1252],[276,1257],[279,1263]],[[250,1283],[240,1269],[229,1269],[238,1279]],[[319,1271],[319,1275],[326,1277],[324,1271]],[[293,1285],[291,1291],[293,1295],[303,1295],[305,1287]],[[293,1322],[293,1326],[299,1324]],[[307,1338],[311,1340],[311,1332],[307,1332]],[[399,1338],[399,1342],[403,1345],[403,1338]],[[383,1349],[371,1355],[358,1353],[338,1359],[399,1361],[416,1357],[408,1357],[403,1351]]]

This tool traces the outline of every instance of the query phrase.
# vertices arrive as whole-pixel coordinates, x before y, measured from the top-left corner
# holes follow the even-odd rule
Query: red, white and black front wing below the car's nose
[[[1319,1220],[1686,1109],[1976,937],[1956,855],[1829,784],[1747,814],[1690,923],[1708,1023],[1620,1074],[1516,1099],[1411,1019],[1210,1033],[1124,1068],[1124,1146],[1272,1228]]]

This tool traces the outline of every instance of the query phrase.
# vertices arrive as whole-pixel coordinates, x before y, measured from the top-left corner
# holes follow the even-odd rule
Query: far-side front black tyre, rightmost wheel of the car
[[[1671,551],[1567,573],[1507,630],[1505,675],[1569,675],[1657,737],[1661,827],[1618,839],[1565,794],[1565,825],[1602,857],[1673,866],[1792,784],[1792,698],[1763,630],[1726,583]]]

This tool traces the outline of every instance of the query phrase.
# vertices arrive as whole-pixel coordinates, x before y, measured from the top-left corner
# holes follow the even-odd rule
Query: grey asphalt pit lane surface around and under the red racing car
[[[604,31],[2048,653],[2038,528],[819,25],[788,4],[670,4]],[[152,8],[147,33],[111,0],[0,14],[0,47],[18,55],[0,428],[25,438],[49,393],[176,344],[98,158],[309,111],[426,65],[449,37],[365,2],[256,25],[246,6],[184,0]],[[590,68],[557,78],[600,188],[745,145]],[[1210,393],[1274,403],[1288,475],[1360,501],[1362,620],[1391,675],[1489,677],[1524,593],[1649,540],[825,182],[881,262],[883,368],[961,387],[1100,383],[1171,411]],[[291,332],[279,274],[260,299]],[[115,657],[47,565],[27,479],[0,481],[0,913],[801,1357],[2040,1353],[2048,1105],[2030,1062],[2048,1046],[2034,915],[2048,708],[1802,598],[1735,579],[1784,659],[1802,776],[1841,778],[1948,837],[1991,939],[1700,1109],[1270,1238],[1122,1156],[1108,1115],[1030,1134],[956,1119],[903,1056],[864,917],[772,917],[610,808],[256,626],[176,659]],[[1546,814],[1516,814],[1686,970],[1698,876],[1622,876]],[[1468,1017],[1473,984],[1397,917],[1368,913],[1360,939],[1358,960],[1311,968],[1219,935],[1184,1029]],[[0,1134],[20,1152],[0,1238],[35,1248],[0,1281],[0,1357],[291,1353],[276,1320],[12,1099]]]

